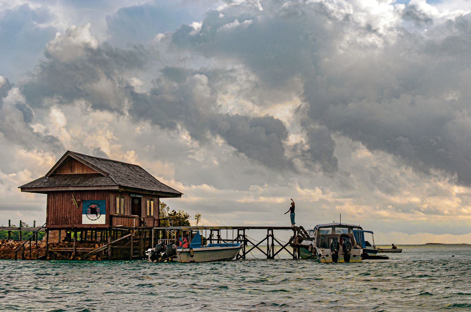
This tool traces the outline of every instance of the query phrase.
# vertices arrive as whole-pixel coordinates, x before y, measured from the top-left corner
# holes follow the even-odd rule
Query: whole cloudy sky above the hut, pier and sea
[[[66,150],[204,225],[471,242],[471,1],[0,1],[0,223]]]

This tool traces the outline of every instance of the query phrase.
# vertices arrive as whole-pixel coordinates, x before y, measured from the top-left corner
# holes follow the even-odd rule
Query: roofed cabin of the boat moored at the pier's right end
[[[362,242],[355,235],[356,230],[362,230],[360,226],[343,223],[319,224],[314,229],[309,229],[308,233],[311,237],[315,237],[313,246],[318,248],[329,249],[333,241],[343,244],[345,238],[349,238],[352,245],[361,248]]]

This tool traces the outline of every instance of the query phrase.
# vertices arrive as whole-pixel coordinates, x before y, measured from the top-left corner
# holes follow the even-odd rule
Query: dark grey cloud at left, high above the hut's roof
[[[119,86],[122,73],[141,69],[146,63],[146,52],[142,47],[122,50],[102,44],[96,49],[84,47],[84,55],[70,62],[61,62],[46,50],[47,61],[41,62],[32,77],[20,86],[31,107],[41,108],[46,98],[68,104],[77,99],[91,103],[93,109],[122,113],[124,99]],[[99,92],[93,85],[107,80],[112,92]],[[116,96],[109,96],[114,94]],[[121,95],[121,98],[120,98]]]

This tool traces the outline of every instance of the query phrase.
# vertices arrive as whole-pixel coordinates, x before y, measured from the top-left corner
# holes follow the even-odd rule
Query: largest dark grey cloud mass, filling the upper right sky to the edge
[[[282,4],[264,1],[258,12],[232,6],[224,17],[211,12],[199,33],[182,25],[172,42],[206,57],[238,59],[271,86],[302,75],[308,116],[324,127],[304,125],[310,148],[304,155],[324,170],[335,166],[326,137],[338,131],[417,169],[443,169],[471,183],[469,15],[433,26],[433,16],[407,6],[403,21],[428,32],[397,25],[391,39],[388,32],[396,30],[381,32],[373,19],[361,24],[348,14],[336,18],[323,4]],[[358,43],[337,53],[351,31]],[[383,46],[360,43],[363,36]]]

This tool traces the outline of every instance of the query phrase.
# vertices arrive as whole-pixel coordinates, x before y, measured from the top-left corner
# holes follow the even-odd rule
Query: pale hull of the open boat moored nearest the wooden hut
[[[235,247],[202,247],[193,249],[193,257],[190,249],[177,250],[176,260],[179,262],[209,262],[226,261],[234,259],[243,246]]]

